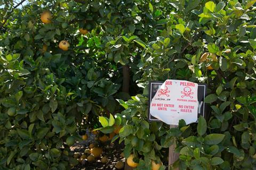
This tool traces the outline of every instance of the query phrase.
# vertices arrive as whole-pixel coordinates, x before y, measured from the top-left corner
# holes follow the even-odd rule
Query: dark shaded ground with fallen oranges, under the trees
[[[78,142],[74,146],[70,147],[72,152],[79,152],[81,154],[84,153],[85,149],[89,149],[89,145],[91,143],[95,143],[95,135],[91,133],[87,133],[89,135],[89,139],[86,141]],[[124,148],[124,145],[118,145],[118,142],[115,142],[110,145],[110,142],[105,143],[99,143],[99,146],[103,149],[102,156],[106,156],[108,158],[108,163],[103,164],[101,163],[101,158],[95,159],[93,163],[87,162],[87,159],[84,160],[84,162],[81,164],[79,163],[75,167],[73,167],[74,170],[93,170],[93,169],[105,169],[105,170],[115,170],[117,169],[116,163],[119,161],[125,162],[125,158],[121,157],[121,152]]]

